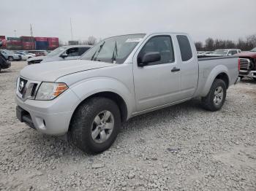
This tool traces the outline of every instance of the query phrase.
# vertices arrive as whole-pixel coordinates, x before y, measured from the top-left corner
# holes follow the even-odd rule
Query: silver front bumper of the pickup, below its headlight
[[[67,133],[69,122],[80,100],[72,90],[67,90],[52,101],[23,101],[16,95],[16,116],[41,133],[61,136]]]

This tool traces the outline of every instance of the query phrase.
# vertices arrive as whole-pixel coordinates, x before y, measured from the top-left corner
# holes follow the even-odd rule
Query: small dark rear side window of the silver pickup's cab
[[[185,35],[177,35],[178,46],[181,50],[182,61],[189,61],[192,58],[192,50],[189,39]]]

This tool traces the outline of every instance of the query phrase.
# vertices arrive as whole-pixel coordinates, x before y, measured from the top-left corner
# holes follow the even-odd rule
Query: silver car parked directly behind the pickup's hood
[[[28,64],[45,63],[50,61],[68,61],[80,58],[84,52],[89,50],[90,45],[72,45],[56,48],[46,56],[38,56],[28,59]]]

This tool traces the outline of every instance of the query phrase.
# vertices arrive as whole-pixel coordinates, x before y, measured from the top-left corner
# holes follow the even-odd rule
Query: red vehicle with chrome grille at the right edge
[[[239,77],[249,77],[256,81],[256,47],[248,52],[241,52]]]

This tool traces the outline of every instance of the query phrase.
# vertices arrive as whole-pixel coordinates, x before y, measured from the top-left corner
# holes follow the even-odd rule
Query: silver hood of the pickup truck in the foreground
[[[55,82],[59,77],[66,76],[68,74],[91,69],[100,69],[108,66],[116,66],[116,64],[86,60],[37,63],[26,66],[22,69],[20,71],[20,76],[39,82]]]

